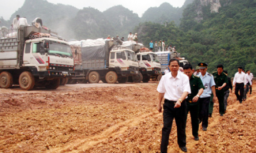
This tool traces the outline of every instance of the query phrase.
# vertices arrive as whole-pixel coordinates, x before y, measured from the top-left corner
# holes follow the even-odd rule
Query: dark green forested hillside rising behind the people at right
[[[230,75],[242,66],[256,74],[256,1],[220,2],[219,13],[210,13],[209,6],[205,6],[200,22],[195,20],[200,1],[195,0],[184,10],[179,28],[173,23],[145,22],[135,31],[140,31],[140,40],[146,45],[150,40],[175,45],[193,66],[205,62],[212,72],[217,64],[223,64]]]

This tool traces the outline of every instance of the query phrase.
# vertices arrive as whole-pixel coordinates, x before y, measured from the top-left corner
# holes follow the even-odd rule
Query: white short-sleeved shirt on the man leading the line
[[[176,78],[174,78],[172,73],[169,72],[161,78],[157,91],[159,93],[165,93],[165,99],[177,101],[184,92],[191,93],[189,78],[180,71],[178,71]]]

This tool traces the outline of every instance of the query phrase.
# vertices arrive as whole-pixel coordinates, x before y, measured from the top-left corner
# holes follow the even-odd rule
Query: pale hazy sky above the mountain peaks
[[[45,0],[46,1],[46,0]],[[150,7],[159,7],[162,3],[167,2],[173,7],[182,7],[185,0],[47,0],[49,3],[71,5],[78,9],[92,7],[99,11],[105,11],[116,5],[137,13],[140,17]],[[9,20],[11,15],[22,7],[25,0],[0,0],[0,17]]]

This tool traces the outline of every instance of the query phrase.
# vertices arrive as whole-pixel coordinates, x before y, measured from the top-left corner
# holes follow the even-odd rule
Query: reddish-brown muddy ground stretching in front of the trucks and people
[[[0,89],[0,152],[160,152],[158,82],[76,84],[57,90]],[[255,85],[255,83],[254,83]],[[188,152],[256,152],[255,89],[227,113],[218,103],[199,141],[187,119]],[[182,152],[174,122],[168,152]]]

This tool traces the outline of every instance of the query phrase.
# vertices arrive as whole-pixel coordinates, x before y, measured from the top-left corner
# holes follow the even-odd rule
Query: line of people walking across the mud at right
[[[199,124],[202,123],[202,130],[207,131],[208,117],[211,117],[213,105],[217,99],[219,114],[223,116],[226,113],[227,97],[230,92],[232,93],[232,89],[235,89],[240,103],[245,100],[244,92],[247,92],[249,87],[251,93],[253,75],[249,70],[245,74],[242,72],[242,67],[238,67],[238,72],[234,75],[233,84],[231,84],[222,64],[217,65],[217,71],[212,74],[207,72],[207,66],[206,63],[199,63],[195,71],[191,64],[185,64],[184,73],[182,73],[179,71],[179,60],[169,60],[170,72],[166,71],[157,87],[158,112],[162,112],[161,103],[164,98],[161,152],[167,152],[174,118],[177,125],[178,145],[182,151],[187,152],[185,128],[188,112],[191,117],[192,135],[198,141]]]

